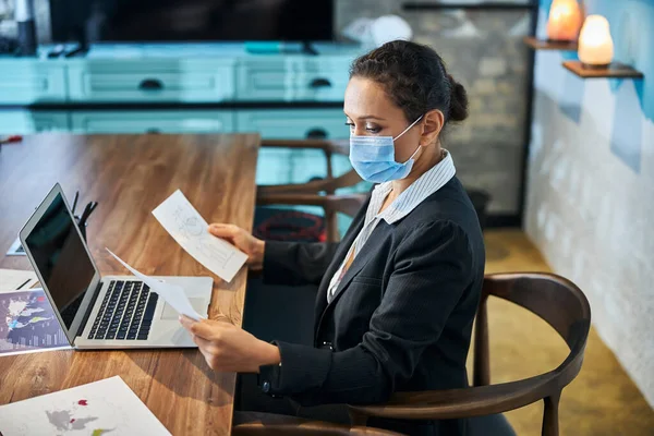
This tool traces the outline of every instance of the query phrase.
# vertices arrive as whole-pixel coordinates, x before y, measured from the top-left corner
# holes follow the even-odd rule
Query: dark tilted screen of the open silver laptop
[[[95,268],[61,194],[55,196],[25,244],[70,329]]]

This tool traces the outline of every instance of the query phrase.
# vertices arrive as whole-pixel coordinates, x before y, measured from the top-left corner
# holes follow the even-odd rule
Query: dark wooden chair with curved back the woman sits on
[[[565,339],[568,358],[554,371],[531,378],[489,385],[489,295],[533,312]],[[591,307],[571,281],[553,274],[497,274],[486,276],[475,325],[474,387],[396,393],[385,404],[350,405],[352,423],[365,425],[368,416],[403,420],[448,420],[507,412],[544,400],[544,436],[558,435],[558,404],[562,389],[579,374],[591,326]]]

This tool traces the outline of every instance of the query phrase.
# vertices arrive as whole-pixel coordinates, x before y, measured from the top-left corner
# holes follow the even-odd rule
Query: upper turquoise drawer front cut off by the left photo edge
[[[0,61],[0,105],[62,102],[65,99],[63,65],[26,59]]]

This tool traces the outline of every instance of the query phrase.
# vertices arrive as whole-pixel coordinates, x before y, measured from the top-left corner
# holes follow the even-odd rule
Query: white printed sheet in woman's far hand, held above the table
[[[180,190],[153,215],[186,253],[225,281],[230,282],[247,261],[245,253],[208,232],[209,226]]]

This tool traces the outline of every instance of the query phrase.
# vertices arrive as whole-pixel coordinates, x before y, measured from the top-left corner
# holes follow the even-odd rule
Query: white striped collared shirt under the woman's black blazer
[[[445,159],[439,161],[434,168],[422,174],[415,182],[405,189],[398,197],[390,204],[386,209],[379,211],[384,201],[392,190],[392,182],[380,183],[375,186],[371,196],[371,203],[365,213],[365,220],[363,221],[363,228],[361,232],[350,246],[348,254],[343,258],[341,266],[338,268],[331,281],[329,282],[329,290],[327,292],[327,302],[330,303],[331,299],[336,294],[338,286],[341,282],[342,276],[344,275],[344,268],[350,255],[356,257],[356,254],[361,252],[366,241],[373,233],[373,230],[377,227],[380,220],[385,220],[389,225],[399,221],[404,218],[411,210],[413,210],[419,204],[421,204],[426,197],[438,191],[447,182],[455,177],[457,170],[455,162],[448,150],[445,150]]]

